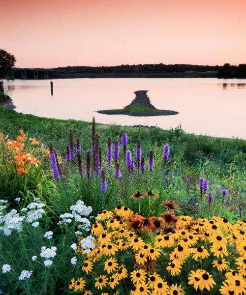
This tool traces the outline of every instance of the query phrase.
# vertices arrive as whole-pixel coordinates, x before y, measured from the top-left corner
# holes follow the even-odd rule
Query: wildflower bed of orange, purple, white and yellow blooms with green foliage
[[[1,294],[246,294],[243,152],[85,128],[0,132]]]

